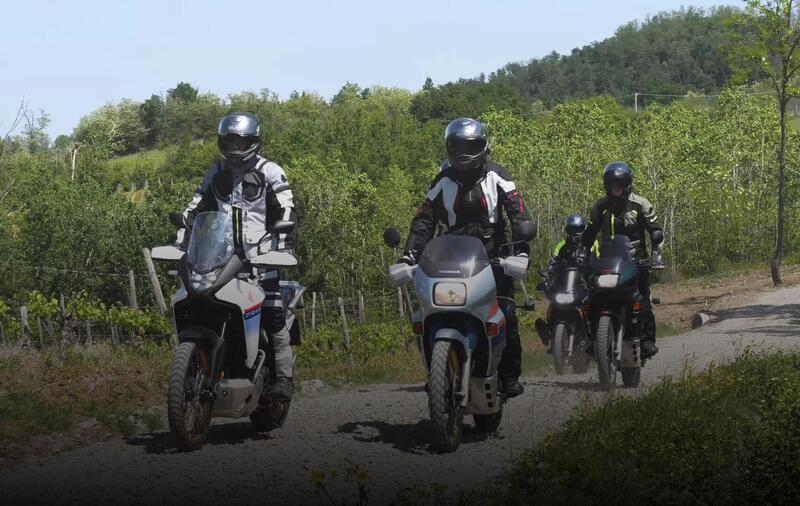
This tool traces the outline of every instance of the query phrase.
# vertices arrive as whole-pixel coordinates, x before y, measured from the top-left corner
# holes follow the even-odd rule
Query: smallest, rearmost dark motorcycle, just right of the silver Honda
[[[586,373],[592,360],[584,310],[589,290],[575,255],[558,265],[549,285],[539,287],[549,304],[546,320],[537,318],[535,327],[553,355],[556,374],[565,374],[570,368],[574,374]]]

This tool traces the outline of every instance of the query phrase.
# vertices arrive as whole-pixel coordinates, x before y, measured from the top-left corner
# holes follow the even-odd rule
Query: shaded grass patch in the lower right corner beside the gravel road
[[[467,503],[798,504],[800,354],[745,353],[584,407]]]

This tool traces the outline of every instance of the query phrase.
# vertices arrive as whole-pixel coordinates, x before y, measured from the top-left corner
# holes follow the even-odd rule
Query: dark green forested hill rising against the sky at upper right
[[[509,63],[487,77],[461,79],[441,86],[426,83],[412,112],[420,120],[441,119],[487,107],[526,109],[535,101],[546,107],[568,99],[611,95],[632,102],[633,92],[682,95],[713,93],[730,75],[720,48],[729,40],[725,20],[731,7],[710,11],[685,9],[631,22],[614,36],[569,55],[551,53],[527,63]]]

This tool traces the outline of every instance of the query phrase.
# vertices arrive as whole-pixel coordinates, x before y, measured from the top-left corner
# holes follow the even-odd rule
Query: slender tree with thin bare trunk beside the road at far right
[[[737,28],[731,49],[736,79],[765,77],[775,92],[780,112],[780,149],[778,151],[778,218],[775,255],[770,265],[772,282],[781,283],[784,215],[786,207],[786,108],[800,88],[795,78],[800,70],[800,20],[796,0],[746,0],[746,13],[733,19]]]

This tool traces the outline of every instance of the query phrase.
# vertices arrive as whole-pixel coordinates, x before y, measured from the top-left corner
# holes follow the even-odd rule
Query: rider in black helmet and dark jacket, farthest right
[[[650,269],[664,268],[661,250],[664,232],[658,224],[653,204],[641,195],[633,193],[633,170],[625,162],[611,162],[603,169],[603,188],[606,196],[595,204],[589,214],[589,225],[583,234],[582,254],[585,258],[589,247],[602,230],[603,237],[613,234],[628,236],[631,241],[631,257],[639,267],[639,293],[642,296],[642,355],[646,358],[658,353],[656,347],[656,321],[650,303]],[[650,235],[652,254],[649,257],[645,246],[645,233]]]

